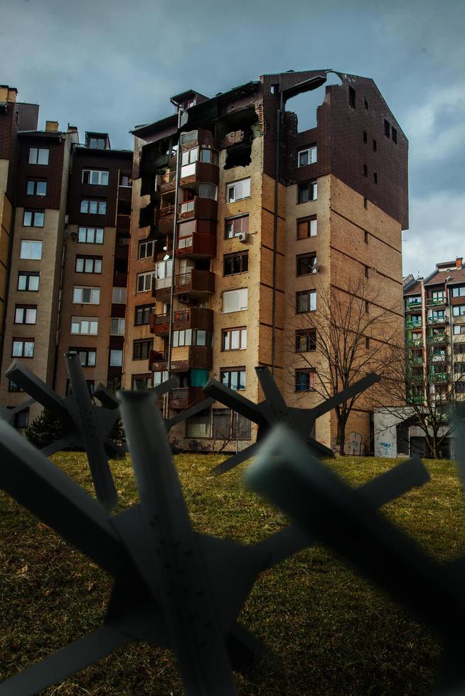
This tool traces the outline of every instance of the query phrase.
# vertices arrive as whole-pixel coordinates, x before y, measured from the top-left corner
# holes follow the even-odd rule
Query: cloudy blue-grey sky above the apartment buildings
[[[267,72],[373,77],[410,141],[404,273],[465,256],[463,0],[0,0],[0,84],[46,119],[128,131]]]

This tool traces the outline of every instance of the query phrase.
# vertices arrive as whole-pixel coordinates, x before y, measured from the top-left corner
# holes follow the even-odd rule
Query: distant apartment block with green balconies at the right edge
[[[427,278],[404,285],[405,344],[410,370],[407,401],[465,394],[465,269],[462,257],[437,263]]]

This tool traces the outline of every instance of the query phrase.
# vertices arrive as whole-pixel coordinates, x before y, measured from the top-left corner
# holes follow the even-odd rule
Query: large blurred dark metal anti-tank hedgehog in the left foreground
[[[114,577],[102,628],[6,680],[0,696],[36,693],[131,641],[171,648],[188,695],[234,694],[231,669],[265,651],[237,623],[252,585],[314,543],[296,525],[251,546],[194,532],[153,393],[118,399],[140,503],[117,515],[0,423],[1,488]],[[301,447],[312,464],[303,440]],[[410,461],[359,490],[378,506],[426,480],[422,464]]]

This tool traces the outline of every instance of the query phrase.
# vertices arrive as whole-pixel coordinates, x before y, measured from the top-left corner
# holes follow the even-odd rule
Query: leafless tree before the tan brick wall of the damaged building
[[[311,387],[329,398],[370,372],[387,375],[402,342],[402,305],[385,308],[377,300],[378,295],[370,293],[368,283],[361,279],[349,283],[347,291],[316,288],[315,310],[294,308],[295,332],[287,332],[289,379],[294,379],[304,363],[314,380]],[[340,455],[344,454],[348,418],[360,399],[369,402],[368,393],[358,393],[334,409]]]

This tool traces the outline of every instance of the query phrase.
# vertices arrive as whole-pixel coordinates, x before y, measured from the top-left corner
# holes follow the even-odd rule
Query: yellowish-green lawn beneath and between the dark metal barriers
[[[222,457],[176,457],[193,526],[242,543],[279,529],[281,513],[247,491],[242,470],[213,477]],[[53,457],[85,489],[90,476],[81,454]],[[330,462],[357,485],[392,460],[345,457]],[[465,551],[464,501],[454,464],[427,460],[432,480],[385,507],[437,558]],[[129,460],[111,462],[119,509],[137,501]],[[0,493],[0,679],[96,629],[111,578]],[[434,597],[432,597],[434,602]],[[247,676],[241,695],[419,695],[431,691],[440,651],[434,636],[324,548],[299,553],[255,584],[240,621],[267,644],[272,658]],[[50,687],[48,695],[180,695],[168,651],[128,646]]]

